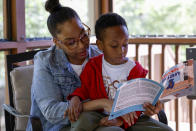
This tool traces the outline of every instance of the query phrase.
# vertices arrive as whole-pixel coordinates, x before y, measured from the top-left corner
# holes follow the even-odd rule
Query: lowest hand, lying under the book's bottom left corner
[[[109,117],[104,117],[100,120],[99,125],[100,126],[122,126],[123,121],[121,119],[112,119],[112,120],[108,120]]]

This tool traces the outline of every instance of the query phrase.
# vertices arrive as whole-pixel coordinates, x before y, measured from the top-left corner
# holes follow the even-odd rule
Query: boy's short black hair
[[[100,16],[95,24],[95,34],[97,39],[103,40],[103,31],[106,28],[113,26],[126,26],[127,28],[127,23],[125,19],[117,13],[107,13]]]

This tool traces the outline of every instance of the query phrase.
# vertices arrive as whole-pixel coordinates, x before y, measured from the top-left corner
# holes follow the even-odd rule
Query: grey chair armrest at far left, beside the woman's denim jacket
[[[18,112],[16,109],[11,107],[10,105],[3,104],[3,109],[12,114],[15,117],[30,117],[29,115],[23,115],[20,112]]]

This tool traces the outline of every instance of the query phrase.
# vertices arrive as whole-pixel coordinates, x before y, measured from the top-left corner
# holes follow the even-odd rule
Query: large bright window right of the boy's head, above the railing
[[[133,35],[196,34],[196,0],[114,0]]]

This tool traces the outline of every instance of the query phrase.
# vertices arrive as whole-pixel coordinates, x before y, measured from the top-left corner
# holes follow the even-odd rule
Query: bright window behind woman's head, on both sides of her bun
[[[83,0],[82,2],[79,2],[78,0],[60,0],[60,3],[63,6],[73,8],[78,13],[81,20],[89,25],[89,17],[91,13],[88,8],[90,7],[89,1],[90,0]],[[51,35],[47,28],[47,18],[49,13],[44,7],[46,0],[26,0],[25,2],[26,37],[50,37]]]

